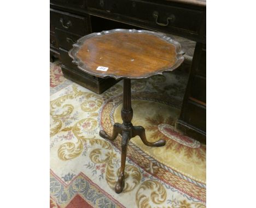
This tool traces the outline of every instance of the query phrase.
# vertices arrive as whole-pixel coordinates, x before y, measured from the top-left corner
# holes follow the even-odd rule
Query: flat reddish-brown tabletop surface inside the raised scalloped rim
[[[176,47],[152,34],[115,32],[86,39],[77,58],[86,71],[108,75],[143,78],[177,63]],[[98,66],[107,71],[96,70]]]

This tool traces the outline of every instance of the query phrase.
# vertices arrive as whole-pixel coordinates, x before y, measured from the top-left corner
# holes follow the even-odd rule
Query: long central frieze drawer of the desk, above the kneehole
[[[93,13],[120,15],[120,19],[128,17],[136,24],[159,31],[175,34],[187,33],[190,36],[197,36],[201,33],[202,10],[141,0],[95,0],[88,1],[87,4],[88,10]]]

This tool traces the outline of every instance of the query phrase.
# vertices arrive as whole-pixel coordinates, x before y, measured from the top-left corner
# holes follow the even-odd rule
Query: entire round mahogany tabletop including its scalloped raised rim
[[[162,33],[114,29],[92,33],[73,45],[73,63],[98,77],[147,78],[182,64],[181,45]]]

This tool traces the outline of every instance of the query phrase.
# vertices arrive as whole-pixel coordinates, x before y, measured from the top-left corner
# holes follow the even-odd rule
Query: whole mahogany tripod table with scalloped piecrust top
[[[125,40],[125,41],[124,41]],[[150,42],[150,45],[147,44]],[[101,33],[92,33],[79,39],[69,56],[82,71],[98,77],[124,79],[123,108],[121,118],[123,124],[115,123],[113,134],[109,136],[100,131],[100,136],[114,140],[121,134],[121,168],[115,186],[115,192],[123,191],[127,144],[132,137],[139,136],[148,146],[164,146],[165,140],[148,142],[145,129],[133,126],[131,107],[131,79],[147,78],[173,71],[184,60],[181,45],[165,34],[148,30],[114,29]]]

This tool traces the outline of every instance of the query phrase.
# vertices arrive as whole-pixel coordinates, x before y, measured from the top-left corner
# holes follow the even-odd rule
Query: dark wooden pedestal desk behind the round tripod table
[[[71,63],[68,50],[81,36],[114,28],[145,28],[196,41],[176,130],[206,143],[206,1],[50,0],[50,21],[50,51],[62,60],[64,76],[97,93],[115,80],[88,75]]]

